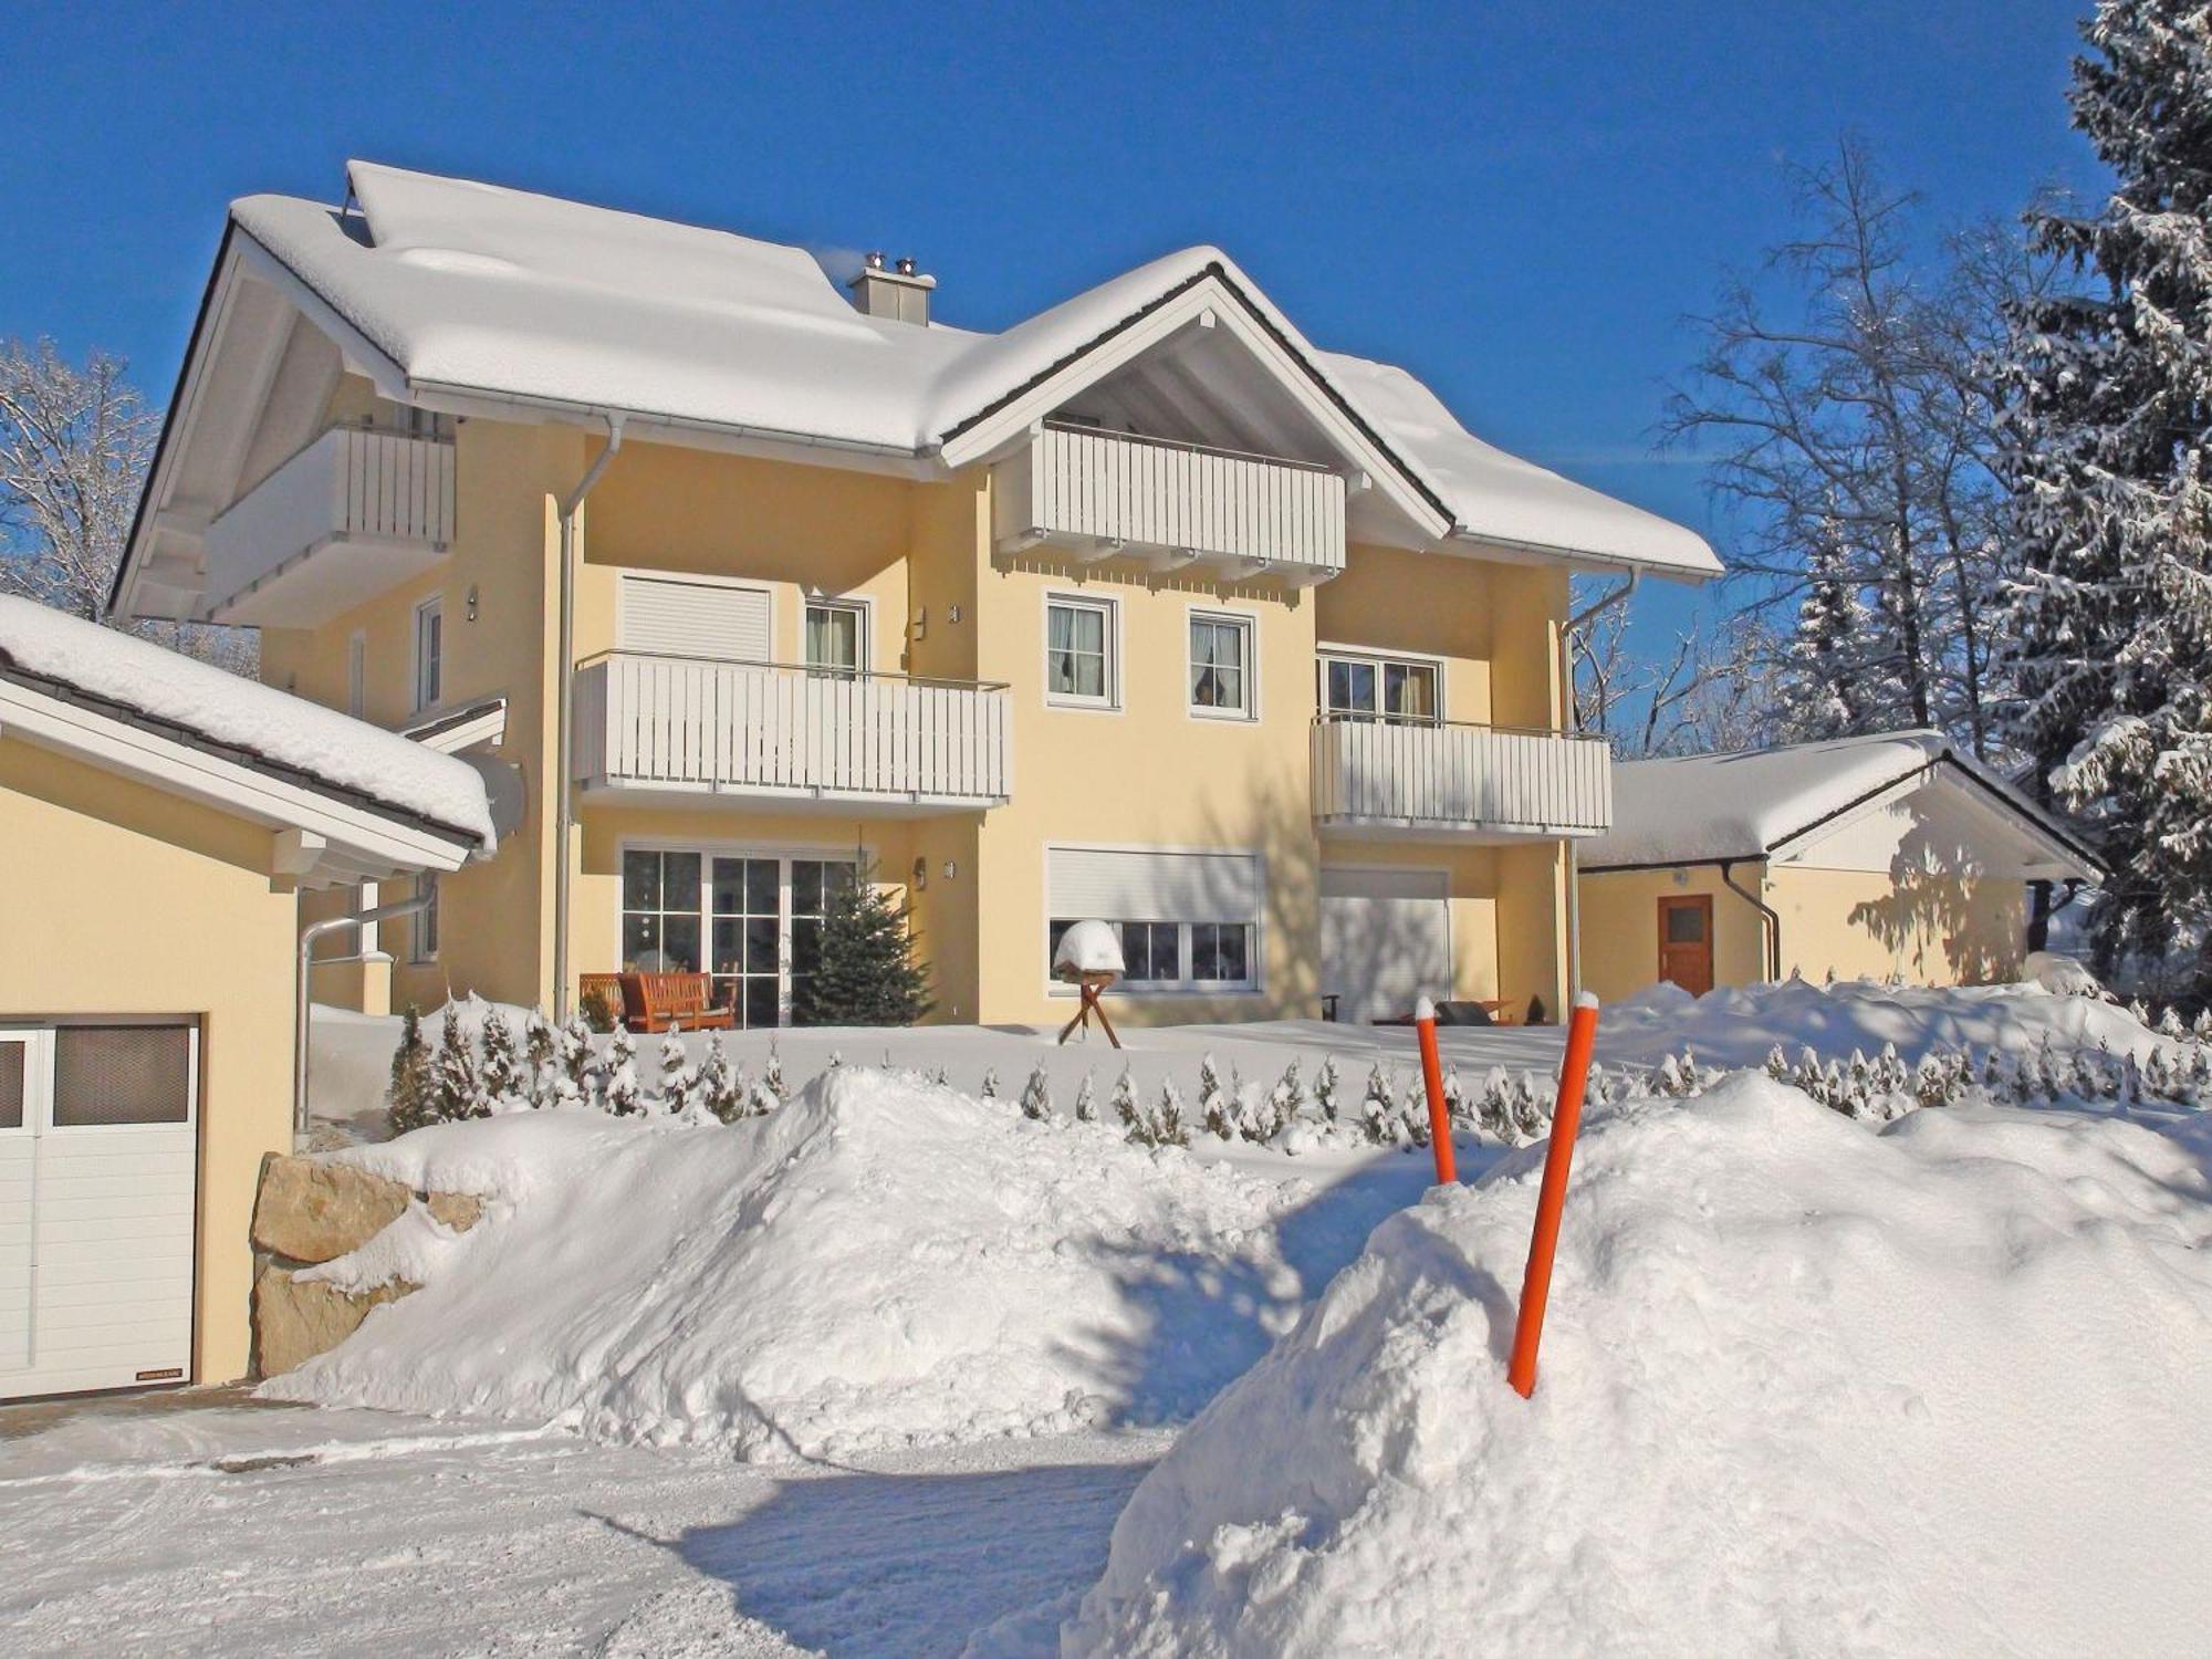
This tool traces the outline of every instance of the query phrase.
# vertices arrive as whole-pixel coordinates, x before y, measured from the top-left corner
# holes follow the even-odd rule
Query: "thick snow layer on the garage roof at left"
[[[467,761],[31,599],[0,595],[0,677],[66,688],[484,852],[495,841],[484,779]]]

